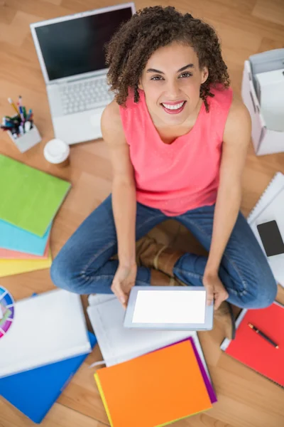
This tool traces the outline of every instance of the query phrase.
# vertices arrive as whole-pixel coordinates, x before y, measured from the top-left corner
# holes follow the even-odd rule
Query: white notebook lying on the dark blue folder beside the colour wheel
[[[80,295],[52,290],[14,305],[0,339],[0,378],[91,352]]]

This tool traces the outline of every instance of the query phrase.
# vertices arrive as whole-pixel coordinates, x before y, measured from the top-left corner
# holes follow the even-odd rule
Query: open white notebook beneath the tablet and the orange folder
[[[90,295],[87,313],[107,367],[192,337],[209,376],[196,332],[125,328],[125,310],[114,295]]]

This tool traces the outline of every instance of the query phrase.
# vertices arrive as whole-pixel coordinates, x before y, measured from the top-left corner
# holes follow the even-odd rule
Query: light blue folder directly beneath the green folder
[[[0,248],[41,256],[48,243],[50,229],[51,225],[43,237],[39,237],[0,219]]]

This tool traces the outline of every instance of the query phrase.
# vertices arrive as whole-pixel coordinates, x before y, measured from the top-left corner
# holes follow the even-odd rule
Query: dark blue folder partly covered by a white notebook
[[[88,334],[93,348],[97,339]],[[40,423],[88,354],[6,376],[0,379],[0,395],[34,423]]]

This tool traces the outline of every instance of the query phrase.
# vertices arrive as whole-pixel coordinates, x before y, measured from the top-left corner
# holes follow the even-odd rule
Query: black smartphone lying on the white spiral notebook
[[[284,253],[283,238],[275,220],[258,224],[257,229],[267,256]]]

